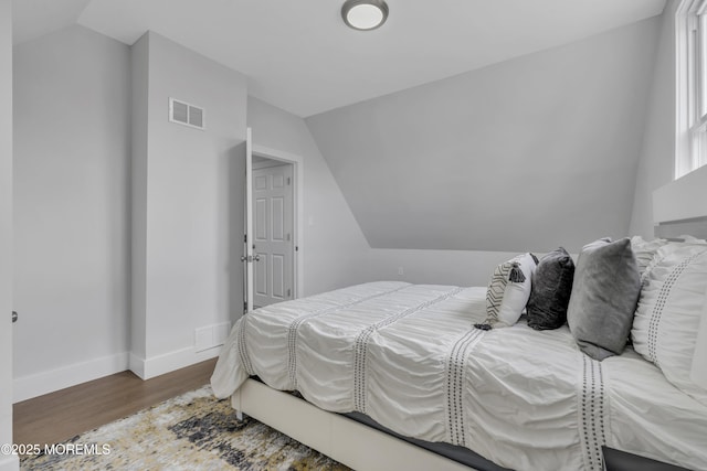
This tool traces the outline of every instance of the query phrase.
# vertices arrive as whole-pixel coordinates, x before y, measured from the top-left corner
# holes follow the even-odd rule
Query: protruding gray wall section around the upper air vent
[[[139,272],[130,368],[151,377],[215,356],[218,349],[194,351],[194,330],[243,311],[238,257],[246,83],[154,32],[133,50],[133,263]],[[169,122],[170,97],[204,108],[205,130]]]

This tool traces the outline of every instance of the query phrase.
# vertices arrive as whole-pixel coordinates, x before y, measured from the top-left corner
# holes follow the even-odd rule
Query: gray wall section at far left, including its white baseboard
[[[129,100],[117,41],[72,26],[14,47],[15,399],[125,368]]]

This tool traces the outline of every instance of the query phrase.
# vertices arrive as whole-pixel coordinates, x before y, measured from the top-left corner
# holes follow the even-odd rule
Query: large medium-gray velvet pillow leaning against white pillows
[[[567,322],[580,350],[594,360],[623,352],[633,324],[641,277],[631,240],[588,244],[577,260]]]

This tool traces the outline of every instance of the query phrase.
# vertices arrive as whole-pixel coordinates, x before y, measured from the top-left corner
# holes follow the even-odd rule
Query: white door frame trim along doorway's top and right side
[[[264,157],[271,160],[278,160],[285,163],[293,164],[293,174],[294,174],[294,185],[295,185],[295,217],[293,218],[293,224],[295,225],[295,246],[298,247],[298,250],[295,250],[295,295],[296,298],[302,298],[304,295],[304,224],[302,223],[302,218],[305,214],[304,207],[304,158],[300,156],[285,152],[277,149],[271,149],[265,146],[260,146],[253,143],[253,156]]]

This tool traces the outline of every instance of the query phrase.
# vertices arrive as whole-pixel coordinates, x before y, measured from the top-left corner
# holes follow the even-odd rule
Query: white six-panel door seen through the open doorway
[[[253,170],[253,307],[293,298],[293,165]]]

